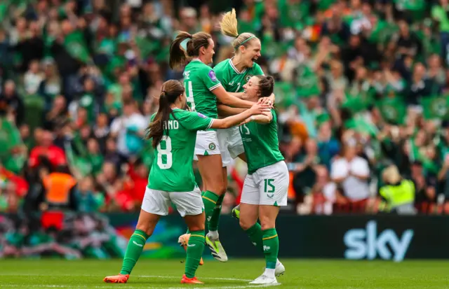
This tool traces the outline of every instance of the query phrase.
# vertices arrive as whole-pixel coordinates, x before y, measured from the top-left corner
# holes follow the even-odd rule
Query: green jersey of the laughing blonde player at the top
[[[263,76],[264,72],[259,64],[247,67],[243,71],[238,71],[232,64],[232,59],[225,59],[217,64],[213,70],[217,73],[217,78],[222,83],[227,92],[243,92],[243,85],[253,76]]]

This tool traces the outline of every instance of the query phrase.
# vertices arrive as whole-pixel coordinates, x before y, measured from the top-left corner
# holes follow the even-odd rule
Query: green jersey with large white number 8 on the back
[[[152,120],[156,114],[152,115]],[[174,117],[173,117],[174,115]],[[196,186],[192,168],[196,131],[209,129],[213,119],[179,108],[164,124],[163,138],[154,150],[148,188],[167,192],[191,192]]]

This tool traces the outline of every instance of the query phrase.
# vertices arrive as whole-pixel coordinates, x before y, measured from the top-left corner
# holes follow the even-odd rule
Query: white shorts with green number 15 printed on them
[[[288,197],[288,169],[286,162],[276,162],[246,175],[241,203],[252,205],[286,206]]]

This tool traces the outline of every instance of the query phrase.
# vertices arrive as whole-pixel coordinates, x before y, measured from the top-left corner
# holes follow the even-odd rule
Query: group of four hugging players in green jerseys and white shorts
[[[154,162],[135,232],[130,237],[119,275],[107,283],[126,283],[161,216],[173,202],[189,231],[179,238],[187,251],[181,283],[202,283],[195,277],[203,264],[204,244],[213,257],[227,261],[218,223],[227,188],[227,165],[240,157],[248,163],[241,204],[234,208],[241,228],[264,254],[266,267],[253,284],[276,284],[285,272],[277,259],[275,223],[279,206],[287,204],[288,169],[279,151],[274,79],[255,63],[260,40],[239,34],[235,10],[224,15],[222,34],[234,37],[234,57],[213,69],[214,42],[210,34],[180,32],[170,46],[170,67],[186,62],[184,85],[163,83],[159,110],[152,115],[147,139],[155,148]],[[186,103],[188,109],[186,108]],[[203,180],[194,179],[193,160]],[[259,223],[257,222],[259,220]],[[208,234],[205,234],[206,225]]]

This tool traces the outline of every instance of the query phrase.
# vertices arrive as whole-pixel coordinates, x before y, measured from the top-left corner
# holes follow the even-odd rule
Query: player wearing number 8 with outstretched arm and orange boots
[[[201,283],[195,277],[204,248],[203,201],[195,183],[192,169],[196,132],[206,129],[225,129],[237,125],[252,115],[269,111],[269,106],[255,104],[239,115],[217,120],[201,113],[184,111],[185,89],[177,80],[168,80],[162,86],[159,110],[152,116],[148,139],[155,148],[154,161],[148,177],[138,225],[126,248],[121,272],[107,276],[107,283],[126,283],[129,274],[152,235],[161,216],[168,214],[173,202],[185,218],[191,236],[187,247],[185,274],[181,283]]]

